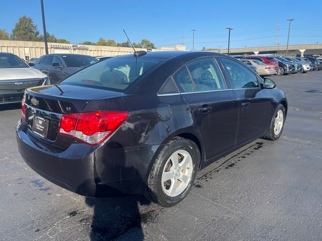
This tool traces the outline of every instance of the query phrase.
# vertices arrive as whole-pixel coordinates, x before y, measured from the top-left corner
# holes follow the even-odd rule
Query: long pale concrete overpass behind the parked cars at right
[[[227,54],[228,49],[217,49],[210,50],[211,52]],[[289,45],[288,56],[294,57],[310,57],[313,54],[322,55],[322,44],[300,44],[300,45]],[[261,55],[261,54],[276,54],[285,55],[285,46],[273,46],[273,47],[253,47],[253,48],[240,48],[240,49],[229,49],[229,55]]]

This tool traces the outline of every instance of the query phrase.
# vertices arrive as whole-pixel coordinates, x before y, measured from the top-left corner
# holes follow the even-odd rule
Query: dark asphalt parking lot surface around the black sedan
[[[0,106],[0,239],[321,240],[322,71],[271,78],[289,102],[282,137],[201,170],[171,208],[141,196],[86,198],[50,183],[18,153],[20,104]]]

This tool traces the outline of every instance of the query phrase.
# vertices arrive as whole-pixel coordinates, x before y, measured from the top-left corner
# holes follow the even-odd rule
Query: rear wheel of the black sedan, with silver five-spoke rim
[[[199,149],[176,137],[158,154],[147,180],[145,197],[164,207],[174,206],[189,193],[196,177]]]

